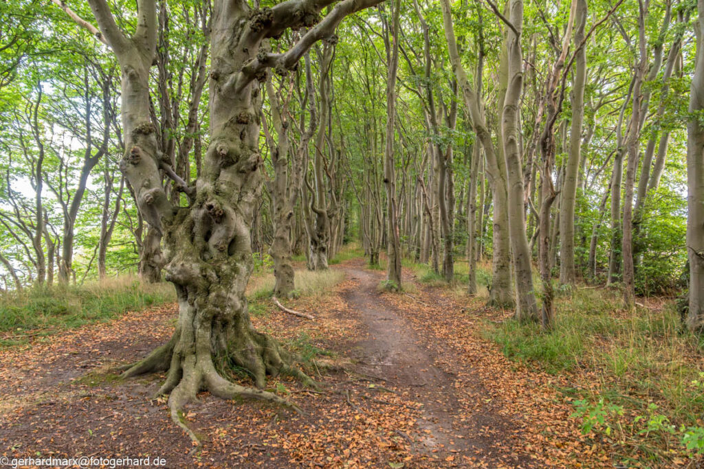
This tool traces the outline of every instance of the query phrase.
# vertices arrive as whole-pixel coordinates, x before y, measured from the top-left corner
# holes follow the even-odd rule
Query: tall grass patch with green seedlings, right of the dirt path
[[[621,461],[667,465],[693,454],[686,445],[704,426],[704,349],[672,304],[632,312],[621,304],[616,290],[577,287],[558,295],[550,333],[517,321],[487,321],[481,333],[510,359],[577,373],[582,386],[564,392],[577,399],[582,430],[601,432]]]

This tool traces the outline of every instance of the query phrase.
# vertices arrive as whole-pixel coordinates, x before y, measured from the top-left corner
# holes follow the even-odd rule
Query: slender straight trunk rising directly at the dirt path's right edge
[[[401,290],[401,236],[398,233],[398,203],[396,202],[396,169],[394,161],[394,124],[396,121],[396,73],[398,72],[398,30],[401,0],[391,4],[391,41],[389,26],[386,26],[386,146],[384,147],[384,186],[386,186],[386,210],[388,217],[388,266],[386,288]],[[391,42],[391,44],[389,44]]]

